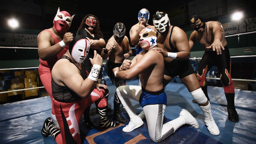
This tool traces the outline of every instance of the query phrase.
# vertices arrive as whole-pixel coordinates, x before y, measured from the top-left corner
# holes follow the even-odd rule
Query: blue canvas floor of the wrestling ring
[[[138,80],[127,82],[128,85],[137,85]],[[113,109],[113,94],[116,87],[108,86],[110,91],[109,107]],[[239,115],[238,122],[231,122],[227,119],[227,102],[222,87],[208,86],[208,95],[211,100],[211,109],[214,120],[219,127],[220,134],[215,136],[208,132],[204,125],[203,113],[197,104],[192,103],[192,96],[181,83],[169,83],[165,87],[168,101],[165,111],[165,122],[179,116],[182,108],[187,109],[197,119],[200,127],[194,129],[183,126],[173,135],[169,136],[161,143],[180,144],[254,144],[256,141],[256,91],[235,89],[235,104]],[[142,107],[134,101],[136,112],[140,113]],[[53,138],[43,137],[41,129],[46,118],[51,117],[51,101],[49,96],[36,99],[12,102],[0,105],[0,139],[2,144],[9,143],[29,143],[29,144],[54,144]],[[112,119],[112,113],[109,113]],[[128,119],[128,115],[121,108],[122,115]],[[95,113],[95,105],[91,106],[91,119],[98,125],[99,115]],[[128,119],[129,120],[129,119]],[[128,121],[129,122],[129,121]],[[127,122],[127,124],[128,124]],[[84,144],[121,144],[153,143],[148,136],[146,120],[144,125],[132,132],[122,132],[124,124],[116,128],[106,130],[86,129],[81,125],[82,133],[85,134]]]

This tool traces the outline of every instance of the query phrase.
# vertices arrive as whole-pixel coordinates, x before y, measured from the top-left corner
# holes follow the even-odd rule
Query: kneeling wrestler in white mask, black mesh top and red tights
[[[108,89],[98,84],[102,58],[94,51],[90,58],[93,67],[87,77],[83,61],[88,56],[89,40],[78,35],[69,45],[69,50],[59,58],[52,68],[53,108],[59,128],[47,118],[42,135],[52,135],[57,143],[81,143],[80,120],[86,107],[97,104],[100,128],[116,127],[118,122],[108,120]]]

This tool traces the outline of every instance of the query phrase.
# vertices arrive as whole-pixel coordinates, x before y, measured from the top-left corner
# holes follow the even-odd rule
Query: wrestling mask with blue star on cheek
[[[144,50],[149,50],[157,45],[157,34],[153,29],[144,28],[140,31],[139,40],[140,40],[140,46],[143,43],[148,44],[147,48],[144,48],[143,46],[141,46],[141,48],[143,48]]]

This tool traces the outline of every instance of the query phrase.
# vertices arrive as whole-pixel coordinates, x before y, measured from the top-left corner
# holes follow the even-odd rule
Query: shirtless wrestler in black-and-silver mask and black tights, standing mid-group
[[[101,56],[107,59],[105,68],[110,80],[116,87],[127,85],[125,80],[115,77],[113,69],[120,67],[124,59],[129,59],[132,55],[132,49],[129,45],[129,39],[125,36],[126,27],[123,23],[116,23],[113,29],[113,36],[107,42],[106,48],[102,51]],[[113,117],[120,123],[126,123],[127,120],[120,113],[121,101],[114,95],[114,112]]]

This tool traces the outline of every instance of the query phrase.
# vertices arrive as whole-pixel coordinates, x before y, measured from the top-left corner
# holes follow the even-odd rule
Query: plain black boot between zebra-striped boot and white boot
[[[115,95],[114,95],[114,112],[113,112],[113,117],[119,123],[124,124],[124,123],[127,122],[127,120],[120,113],[120,105],[121,105],[121,101],[118,98],[117,94],[115,93]]]

